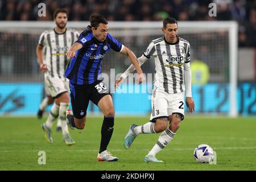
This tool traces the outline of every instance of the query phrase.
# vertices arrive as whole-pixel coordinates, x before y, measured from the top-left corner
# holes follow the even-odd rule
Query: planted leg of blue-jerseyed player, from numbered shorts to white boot
[[[100,150],[98,152],[98,161],[108,161],[114,162],[118,158],[112,156],[109,151],[107,151],[108,144],[113,134],[114,130],[114,115],[115,110],[113,106],[112,97],[109,93],[108,88],[103,82],[94,84],[91,87],[90,100],[96,104],[104,114],[104,119],[101,127],[101,143]]]

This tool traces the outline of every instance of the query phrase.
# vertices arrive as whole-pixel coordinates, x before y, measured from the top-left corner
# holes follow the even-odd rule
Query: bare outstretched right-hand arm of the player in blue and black
[[[123,47],[121,53],[123,55],[128,56],[130,61],[131,61],[131,63],[133,63],[133,65],[134,65],[134,67],[135,67],[135,69],[136,69],[136,71],[137,71],[137,73],[139,75],[139,77],[138,77],[138,84],[141,84],[141,82],[144,81],[144,76],[142,74],[143,72],[142,72],[141,66],[139,65],[139,62],[137,60],[137,57],[134,55],[133,51],[131,51],[129,48],[127,48],[125,46]]]

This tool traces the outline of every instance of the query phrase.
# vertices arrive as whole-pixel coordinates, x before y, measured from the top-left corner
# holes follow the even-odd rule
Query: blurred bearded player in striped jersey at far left
[[[44,31],[40,35],[39,43],[36,47],[40,70],[44,73],[44,81],[51,97],[55,100],[47,121],[42,124],[42,127],[46,134],[47,142],[52,143],[52,124],[58,118],[64,142],[67,145],[72,145],[75,144],[75,141],[69,135],[67,123],[65,122],[65,112],[69,107],[68,80],[64,77],[64,71],[68,64],[65,53],[78,38],[79,32],[66,28],[68,21],[67,11],[58,9],[53,14],[53,18],[56,27],[53,30]],[[46,46],[46,64],[43,63],[44,46]]]

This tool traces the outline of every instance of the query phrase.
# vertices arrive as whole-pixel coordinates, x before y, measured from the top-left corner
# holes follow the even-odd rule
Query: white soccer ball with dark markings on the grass
[[[198,163],[209,163],[213,161],[213,150],[208,144],[200,144],[195,148],[194,158]]]

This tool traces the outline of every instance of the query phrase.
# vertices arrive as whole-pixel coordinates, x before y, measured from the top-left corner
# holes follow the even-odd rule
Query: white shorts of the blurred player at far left
[[[68,92],[69,93],[69,83],[68,79],[65,80],[60,79],[59,77],[44,77],[46,90],[48,89],[49,95],[53,98],[58,96],[61,93]]]

